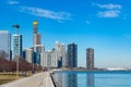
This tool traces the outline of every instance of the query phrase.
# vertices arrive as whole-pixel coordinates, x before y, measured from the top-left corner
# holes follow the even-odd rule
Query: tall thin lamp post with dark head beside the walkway
[[[19,49],[19,34],[20,34],[20,25],[13,25],[12,27],[17,29],[17,61],[16,61],[16,76],[19,76],[19,57],[20,57],[20,49]]]

